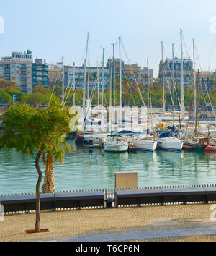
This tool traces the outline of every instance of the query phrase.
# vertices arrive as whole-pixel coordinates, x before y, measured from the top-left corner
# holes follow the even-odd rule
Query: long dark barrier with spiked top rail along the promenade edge
[[[40,195],[40,210],[81,210],[146,205],[216,202],[216,184],[91,189]],[[4,214],[30,213],[36,209],[35,194],[1,195]]]

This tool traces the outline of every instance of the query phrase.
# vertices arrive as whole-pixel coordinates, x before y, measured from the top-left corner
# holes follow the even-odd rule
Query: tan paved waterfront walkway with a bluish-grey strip
[[[167,205],[134,208],[66,210],[40,214],[40,228],[48,233],[26,234],[34,229],[35,213],[4,216],[0,241],[214,241],[215,216],[208,205]],[[215,207],[216,210],[216,207]]]

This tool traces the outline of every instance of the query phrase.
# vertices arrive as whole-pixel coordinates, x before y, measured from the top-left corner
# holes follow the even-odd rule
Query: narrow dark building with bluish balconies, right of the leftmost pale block
[[[37,85],[49,87],[49,67],[42,59],[35,59],[35,63],[32,64],[32,88]]]

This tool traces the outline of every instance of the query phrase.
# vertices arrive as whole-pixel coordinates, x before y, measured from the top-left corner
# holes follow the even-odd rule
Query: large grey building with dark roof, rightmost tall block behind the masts
[[[174,73],[174,74],[173,74]],[[165,90],[168,91],[173,86],[173,80],[175,85],[181,87],[181,59],[166,59],[162,64],[162,60],[159,64],[159,74],[158,78],[163,82],[164,76],[164,87]],[[192,88],[193,87],[193,62],[191,59],[183,60],[183,77],[184,77],[184,88]]]

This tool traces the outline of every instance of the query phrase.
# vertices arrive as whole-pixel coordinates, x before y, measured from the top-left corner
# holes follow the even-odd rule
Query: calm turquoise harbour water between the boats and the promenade
[[[55,191],[114,188],[115,172],[137,171],[138,187],[178,184],[216,184],[215,153],[107,153],[76,147],[63,165],[55,163]],[[42,163],[40,166],[44,172]],[[35,158],[15,150],[0,150],[0,195],[35,192]]]

